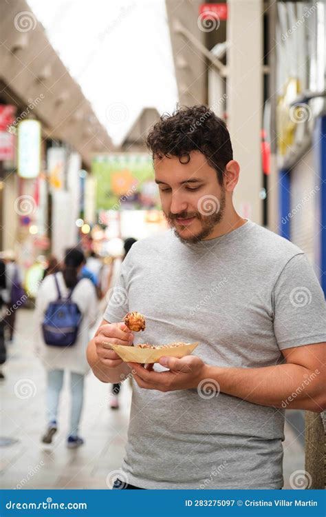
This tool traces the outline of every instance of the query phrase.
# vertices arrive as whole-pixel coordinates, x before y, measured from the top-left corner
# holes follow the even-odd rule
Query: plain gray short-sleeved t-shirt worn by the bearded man
[[[326,341],[325,300],[305,254],[252,221],[197,244],[181,243],[173,230],[139,241],[116,285],[107,321],[141,312],[146,330],[135,344],[199,341],[194,354],[210,365],[275,365],[282,349]],[[123,481],[149,489],[281,488],[283,428],[283,409],[133,381]]]

